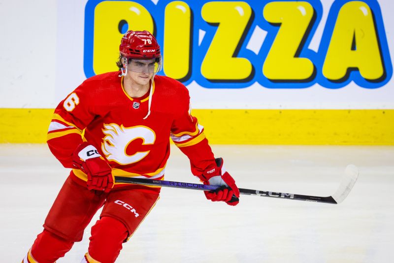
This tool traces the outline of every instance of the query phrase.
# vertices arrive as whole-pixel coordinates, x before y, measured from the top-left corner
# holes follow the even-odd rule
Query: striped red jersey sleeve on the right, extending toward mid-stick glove
[[[215,158],[204,134],[204,127],[191,115],[190,98],[180,103],[179,112],[172,123],[171,139],[189,158],[192,173],[201,175],[207,168],[214,167]]]

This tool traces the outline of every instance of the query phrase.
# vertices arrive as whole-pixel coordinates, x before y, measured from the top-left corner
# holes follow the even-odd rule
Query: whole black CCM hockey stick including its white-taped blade
[[[349,195],[350,190],[352,190],[354,184],[357,181],[358,176],[359,176],[359,169],[356,167],[356,165],[349,164],[346,167],[344,178],[342,179],[342,182],[339,185],[338,189],[332,196],[329,197],[306,196],[306,195],[297,195],[297,194],[271,192],[271,191],[259,191],[259,190],[243,189],[243,188],[239,188],[239,193],[242,195],[250,195],[250,196],[274,197],[274,198],[337,204],[342,202]],[[183,189],[194,189],[194,190],[202,190],[202,191],[212,191],[219,188],[219,186],[215,186],[215,185],[202,185],[195,183],[141,179],[141,178],[122,177],[122,176],[115,176],[115,182],[174,187],[174,188],[183,188]]]

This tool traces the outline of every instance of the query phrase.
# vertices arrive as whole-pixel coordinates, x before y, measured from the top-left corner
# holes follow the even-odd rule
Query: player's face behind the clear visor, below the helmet
[[[154,74],[156,67],[155,59],[151,60],[131,60],[128,65],[128,75],[131,80],[138,85],[147,85]]]

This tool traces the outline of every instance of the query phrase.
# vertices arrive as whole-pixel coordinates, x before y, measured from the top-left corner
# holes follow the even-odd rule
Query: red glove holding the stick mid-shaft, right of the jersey
[[[215,191],[204,191],[205,197],[212,201],[225,201],[229,205],[237,205],[239,202],[239,190],[235,180],[223,167],[223,159],[216,158],[216,167],[209,168],[198,176],[204,185],[219,185]]]

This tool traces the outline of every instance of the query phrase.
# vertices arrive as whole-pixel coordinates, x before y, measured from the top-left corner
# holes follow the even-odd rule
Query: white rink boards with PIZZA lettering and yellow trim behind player
[[[117,70],[127,30],[162,46],[215,144],[393,145],[390,0],[0,1],[0,142],[43,143],[57,104]]]

